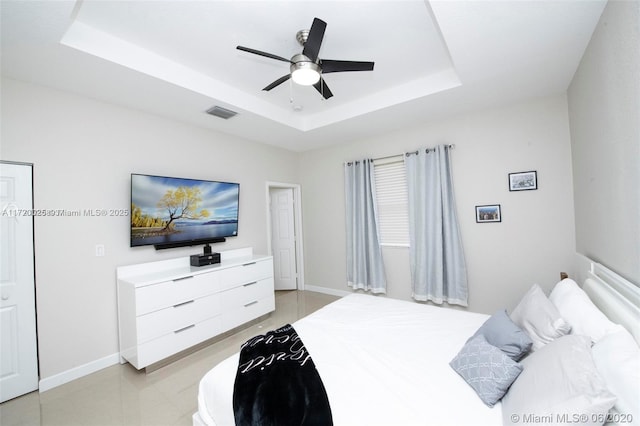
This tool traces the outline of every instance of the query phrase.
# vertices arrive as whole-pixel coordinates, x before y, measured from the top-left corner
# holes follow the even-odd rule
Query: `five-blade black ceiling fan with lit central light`
[[[329,99],[333,96],[333,93],[331,93],[331,90],[329,90],[329,87],[322,78],[322,74],[344,71],[373,71],[374,63],[363,61],[335,61],[318,58],[320,45],[322,44],[326,28],[326,22],[314,18],[311,29],[298,31],[296,39],[298,43],[303,46],[303,49],[302,53],[293,55],[291,59],[251,49],[250,47],[237,46],[237,49],[278,61],[289,62],[290,73],[280,77],[262,90],[269,91],[291,78],[297,84],[315,87],[325,99]]]

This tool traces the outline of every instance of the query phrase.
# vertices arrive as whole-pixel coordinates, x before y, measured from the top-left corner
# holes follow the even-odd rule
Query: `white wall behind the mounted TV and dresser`
[[[132,172],[239,182],[239,236],[216,250],[266,253],[266,182],[298,181],[294,153],[6,79],[1,137],[3,160],[34,163],[36,209],[129,209]],[[118,352],[117,266],[201,250],[130,248],[128,229],[129,217],[35,219],[41,379]]]

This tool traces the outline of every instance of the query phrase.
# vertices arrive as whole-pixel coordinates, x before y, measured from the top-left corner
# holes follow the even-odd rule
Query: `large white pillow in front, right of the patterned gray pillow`
[[[538,423],[601,425],[616,402],[596,369],[588,336],[563,336],[521,364],[522,373],[502,398],[505,425],[521,426],[532,419]]]

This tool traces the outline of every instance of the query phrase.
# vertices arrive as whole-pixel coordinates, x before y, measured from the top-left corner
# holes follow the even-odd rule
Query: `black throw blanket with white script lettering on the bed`
[[[242,345],[233,412],[237,426],[333,425],[318,370],[290,324]]]

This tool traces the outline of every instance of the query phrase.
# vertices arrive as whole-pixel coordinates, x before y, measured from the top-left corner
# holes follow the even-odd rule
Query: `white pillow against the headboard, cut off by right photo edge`
[[[618,400],[612,420],[640,424],[640,348],[624,328],[609,333],[591,349],[593,361]],[[636,424],[636,423],[632,423]]]

